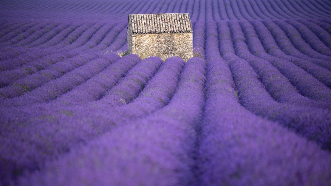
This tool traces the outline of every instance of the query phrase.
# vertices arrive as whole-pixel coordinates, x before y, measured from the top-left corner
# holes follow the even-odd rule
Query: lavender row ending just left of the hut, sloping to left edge
[[[71,60],[71,63],[68,62],[62,63],[61,65],[63,65],[64,67],[62,67],[62,69],[55,69],[55,71],[58,72],[56,75],[61,76],[64,73],[64,71],[68,71],[68,69],[71,71],[51,81],[49,81],[51,77],[47,76],[48,74],[46,75],[41,74],[44,76],[43,77],[45,79],[44,81],[49,81],[49,82],[43,84],[42,86],[35,87],[35,85],[39,85],[40,82],[27,81],[26,83],[32,83],[32,86],[35,89],[31,90],[29,88],[26,88],[29,87],[26,84],[19,85],[25,90],[26,93],[17,98],[4,100],[2,105],[11,104],[12,106],[23,106],[23,105],[31,105],[31,104],[48,102],[50,100],[53,100],[58,96],[70,91],[75,86],[83,83],[87,79],[90,79],[93,75],[99,73],[101,70],[105,69],[107,66],[118,60],[118,58],[119,58],[118,55],[110,54],[109,56],[107,56],[107,59],[97,58],[85,62],[84,65],[81,65],[78,68],[75,68],[76,67],[75,60]]]

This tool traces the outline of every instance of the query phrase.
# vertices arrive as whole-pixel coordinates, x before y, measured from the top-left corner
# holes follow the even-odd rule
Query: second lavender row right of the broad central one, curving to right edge
[[[237,25],[238,26],[238,25]],[[218,24],[218,32],[223,35],[220,38],[220,42],[228,43],[226,46],[228,49],[231,49],[232,53],[236,53],[237,56],[247,60],[251,67],[257,72],[260,81],[265,86],[266,90],[274,99],[281,103],[291,103],[301,106],[311,106],[319,108],[331,108],[326,102],[315,101],[304,97],[299,94],[297,89],[290,83],[290,81],[281,74],[281,72],[274,66],[272,66],[268,61],[253,56],[246,42],[244,40],[244,34],[239,30],[232,29],[232,35],[242,35],[241,39],[236,39],[234,45],[232,44],[230,28],[227,26],[227,23]],[[224,54],[226,54],[224,51]]]

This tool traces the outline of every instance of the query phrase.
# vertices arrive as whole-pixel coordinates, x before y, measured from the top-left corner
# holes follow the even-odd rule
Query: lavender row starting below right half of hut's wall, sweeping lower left
[[[170,70],[166,68],[173,64],[180,64],[171,69],[174,73],[172,76],[166,77],[166,74],[169,74]],[[20,152],[22,155],[19,158],[11,157],[10,154],[3,154],[2,158],[9,159],[11,164],[8,165],[8,169],[6,174],[9,174],[10,171],[14,169],[30,169],[34,170],[36,166],[42,165],[45,160],[53,159],[59,156],[61,153],[68,152],[68,148],[71,148],[72,145],[77,143],[84,143],[87,142],[88,139],[94,138],[101,133],[111,130],[112,128],[123,125],[124,122],[131,121],[134,117],[143,116],[148,113],[153,112],[153,109],[159,109],[167,104],[167,102],[171,99],[171,95],[175,92],[177,86],[177,80],[173,78],[178,78],[180,74],[181,67],[183,66],[184,61],[178,58],[170,58],[165,62],[164,69],[160,69],[161,71],[158,72],[151,81],[146,85],[144,91],[140,96],[138,96],[132,103],[125,105],[123,107],[118,107],[117,110],[113,110],[110,112],[108,105],[101,108],[95,108],[94,105],[88,106],[77,106],[77,107],[63,107],[60,105],[52,104],[53,107],[49,105],[40,105],[35,106],[35,110],[41,110],[42,112],[29,112],[25,110],[23,107],[22,109],[12,108],[10,113],[19,112],[22,113],[23,118],[16,118],[20,120],[16,120],[15,122],[24,122],[24,128],[17,128],[13,125],[7,125],[6,128],[3,128],[2,131],[8,131],[6,133],[5,138],[3,141],[5,143],[1,145],[1,148],[8,148],[8,146],[18,146],[18,147],[26,147],[28,146],[31,148],[31,151],[24,151],[22,148],[17,148],[15,151]],[[189,73],[189,72],[187,72]],[[191,72],[192,73],[192,72]],[[198,73],[198,72],[197,72]],[[190,74],[192,75],[192,74]],[[177,76],[177,77],[176,77]],[[188,76],[188,75],[186,75]],[[182,78],[184,79],[184,78]],[[189,79],[185,78],[185,81]],[[184,81],[182,80],[182,81]],[[132,112],[133,110],[139,108],[140,112]],[[54,112],[55,110],[56,112]],[[92,125],[89,127],[84,127],[83,125],[71,125],[65,123],[77,123],[73,122],[73,120],[81,120],[82,117],[87,116],[87,110],[95,110],[97,109],[98,112],[90,112],[90,114],[99,115],[103,113],[102,117],[105,117],[100,123],[101,120],[91,121]],[[53,111],[52,111],[53,110]],[[102,112],[99,112],[101,111]],[[128,112],[131,110],[130,112]],[[30,116],[26,119],[25,112],[29,112]],[[55,116],[49,116],[48,113],[54,113]],[[94,114],[93,114],[94,113]],[[9,113],[8,113],[9,114]],[[2,113],[3,116],[8,116],[8,114]],[[40,115],[44,114],[44,115]],[[9,114],[10,115],[10,114]],[[95,116],[87,116],[86,119],[93,119]],[[11,117],[9,117],[11,118]],[[50,119],[54,118],[54,119]],[[14,122],[7,121],[9,123]],[[54,125],[54,122],[61,123],[60,125]],[[89,123],[86,122],[86,123]],[[109,125],[109,123],[113,123]],[[56,126],[58,129],[54,129]],[[90,127],[94,127],[94,130],[90,130]],[[36,130],[38,128],[38,130]],[[23,130],[24,129],[24,130]],[[85,130],[86,129],[86,130]],[[80,133],[76,133],[75,131],[81,131]],[[10,131],[10,132],[9,132]],[[36,131],[43,131],[41,133],[35,133]],[[48,131],[48,132],[46,132]],[[70,132],[72,131],[72,132]],[[31,139],[30,136],[38,136],[38,138]],[[9,137],[11,136],[11,137]],[[40,138],[44,140],[39,140]],[[8,141],[10,139],[21,139],[17,140],[15,143],[12,141]],[[8,139],[8,140],[7,140]],[[67,140],[65,140],[67,139]],[[8,142],[8,143],[7,143]],[[31,146],[32,145],[32,146]],[[47,148],[49,145],[52,148]],[[46,149],[45,149],[46,148]],[[48,151],[47,154],[44,152]],[[23,154],[22,154],[23,153]],[[51,155],[51,156],[50,156]],[[30,157],[29,161],[25,157]],[[15,164],[13,164],[15,163]]]

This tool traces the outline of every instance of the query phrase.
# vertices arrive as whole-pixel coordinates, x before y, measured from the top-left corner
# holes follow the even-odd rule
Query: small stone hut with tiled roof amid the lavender
[[[171,56],[184,61],[193,57],[192,24],[189,14],[130,14],[127,27],[128,53],[142,59]]]

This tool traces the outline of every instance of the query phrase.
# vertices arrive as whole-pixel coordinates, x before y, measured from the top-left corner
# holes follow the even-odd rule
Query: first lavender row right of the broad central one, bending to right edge
[[[231,23],[230,23],[231,24]],[[242,37],[242,36],[241,36]],[[235,43],[240,36],[233,36]],[[240,103],[251,112],[278,121],[294,129],[310,140],[315,140],[324,148],[330,144],[330,131],[328,131],[330,110],[298,107],[291,104],[278,103],[265,90],[258,75],[249,63],[228,52],[231,43],[227,42],[221,48],[222,57],[229,63],[234,82],[239,94]],[[290,112],[289,112],[290,111]]]

